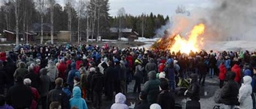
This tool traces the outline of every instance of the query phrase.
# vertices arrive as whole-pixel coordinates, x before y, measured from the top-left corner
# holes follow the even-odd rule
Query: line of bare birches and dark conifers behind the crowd
[[[126,14],[125,9],[118,10],[118,16],[109,14],[109,0],[66,0],[62,6],[55,0],[3,0],[0,7],[0,33],[4,29],[16,33],[30,32],[36,24],[40,25],[38,36],[41,44],[46,30],[50,26],[51,43],[54,43],[54,32],[60,30],[70,31],[70,41],[88,41],[89,38],[102,36],[110,32],[110,27],[133,29],[142,37],[154,37],[155,29],[166,25],[166,18],[157,14],[141,14],[133,16]],[[86,33],[86,37],[81,34]],[[108,36],[102,36],[108,37]]]

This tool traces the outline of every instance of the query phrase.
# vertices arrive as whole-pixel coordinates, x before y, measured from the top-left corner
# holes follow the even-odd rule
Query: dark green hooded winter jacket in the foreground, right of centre
[[[159,94],[160,81],[156,79],[156,72],[151,71],[148,73],[149,80],[144,84],[143,91],[148,93],[147,100],[149,103],[156,103]]]

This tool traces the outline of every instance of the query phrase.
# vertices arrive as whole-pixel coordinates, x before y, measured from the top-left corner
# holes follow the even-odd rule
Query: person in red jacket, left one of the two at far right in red
[[[226,78],[226,67],[224,62],[222,62],[219,65],[219,73],[218,73],[218,79],[219,79],[219,88],[222,88],[224,85],[224,80]]]

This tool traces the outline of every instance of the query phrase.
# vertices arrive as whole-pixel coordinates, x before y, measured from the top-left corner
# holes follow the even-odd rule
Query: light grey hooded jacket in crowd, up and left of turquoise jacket
[[[58,69],[54,66],[54,64],[47,67],[47,76],[50,77],[50,82],[54,82],[58,77]]]

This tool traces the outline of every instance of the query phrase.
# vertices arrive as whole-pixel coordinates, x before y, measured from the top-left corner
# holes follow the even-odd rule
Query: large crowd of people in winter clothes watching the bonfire
[[[0,53],[0,107],[102,107],[126,109],[127,85],[135,80],[136,109],[174,109],[180,80],[190,78],[185,91],[199,102],[206,76],[218,76],[226,109],[256,107],[256,53],[171,53],[159,49],[119,49],[109,45],[19,45]],[[141,89],[141,84],[143,88]],[[115,95],[116,94],[116,95]],[[114,96],[115,95],[115,96]]]

